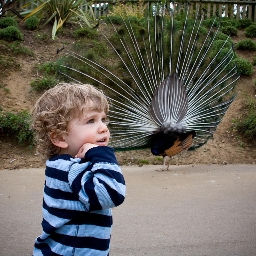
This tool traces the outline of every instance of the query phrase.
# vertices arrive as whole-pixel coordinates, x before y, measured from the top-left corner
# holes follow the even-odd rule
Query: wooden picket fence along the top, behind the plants
[[[112,2],[115,2],[116,0],[101,0],[101,1],[95,1],[94,4],[92,4],[92,9],[94,11],[94,16],[96,19],[98,19],[100,16],[105,15],[109,12],[110,5]],[[145,0],[145,4],[148,4],[148,2],[153,5],[155,3],[155,0]],[[27,1],[19,1],[18,5],[16,5],[16,8],[21,9],[22,6],[27,4]],[[17,2],[16,2],[17,4]],[[138,0],[129,0],[128,4],[130,5],[137,5]],[[256,0],[191,0],[190,1],[190,13],[195,13],[198,8],[199,4],[201,7],[201,13],[200,16],[203,16],[204,18],[209,18],[212,15],[215,15],[216,13],[221,17],[230,17],[231,19],[250,19],[254,23],[256,23]],[[175,2],[175,8],[179,9],[182,6],[188,7],[188,3],[186,1],[176,1]],[[170,1],[167,1],[166,4],[167,8],[172,8],[172,4]],[[30,6],[26,7],[31,8]],[[84,7],[81,6],[81,8],[86,9],[86,5]],[[7,16],[14,16],[15,14],[11,11],[8,11],[6,13]]]

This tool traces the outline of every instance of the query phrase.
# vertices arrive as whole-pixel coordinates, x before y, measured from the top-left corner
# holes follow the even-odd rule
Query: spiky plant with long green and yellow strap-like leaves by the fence
[[[91,8],[91,4],[94,1],[86,2],[86,5],[89,7],[89,11],[83,12],[80,7],[84,4],[84,0],[29,0],[29,4],[37,5],[36,8],[27,10],[25,12],[22,12],[21,14],[26,14],[27,16],[24,19],[27,19],[30,16],[33,15],[40,15],[40,18],[43,17],[44,14],[47,15],[47,20],[43,24],[47,24],[48,22],[53,23],[52,27],[52,39],[55,38],[56,32],[58,29],[62,27],[62,25],[66,21],[74,21],[76,23],[79,23],[82,27],[81,23],[79,21],[75,21],[75,19],[80,19],[81,21],[85,22],[87,26],[91,27],[91,24],[89,23],[89,20],[92,20],[95,22],[93,10]],[[27,5],[29,5],[27,4]],[[25,5],[25,6],[27,6]],[[23,7],[25,7],[23,6]],[[89,15],[91,14],[92,17]]]

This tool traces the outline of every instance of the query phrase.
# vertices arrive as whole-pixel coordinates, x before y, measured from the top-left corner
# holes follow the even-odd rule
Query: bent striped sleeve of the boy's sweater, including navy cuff
[[[68,179],[73,192],[88,211],[119,206],[125,197],[125,181],[114,150],[94,147],[85,154],[86,163],[71,165]]]

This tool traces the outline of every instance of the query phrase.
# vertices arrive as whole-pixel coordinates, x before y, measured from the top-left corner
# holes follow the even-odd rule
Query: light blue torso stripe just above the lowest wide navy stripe
[[[64,225],[55,230],[56,233],[68,236],[78,237],[95,237],[100,239],[110,239],[111,229],[96,225],[79,225],[78,233],[76,234],[76,225]]]

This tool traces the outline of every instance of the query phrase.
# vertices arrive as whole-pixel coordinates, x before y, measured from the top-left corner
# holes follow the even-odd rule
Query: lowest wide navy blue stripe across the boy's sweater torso
[[[106,251],[109,248],[110,239],[100,239],[95,237],[72,237],[68,235],[53,233],[49,236],[52,240],[59,244],[66,246],[84,248],[84,244],[87,245],[86,248]]]

